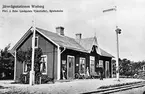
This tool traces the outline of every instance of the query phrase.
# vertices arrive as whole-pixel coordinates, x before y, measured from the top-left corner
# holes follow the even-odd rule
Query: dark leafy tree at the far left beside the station
[[[14,56],[9,51],[10,44],[0,51],[0,79],[13,79]]]

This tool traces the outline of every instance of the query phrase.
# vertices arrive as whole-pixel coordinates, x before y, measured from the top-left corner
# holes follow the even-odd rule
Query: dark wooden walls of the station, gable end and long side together
[[[99,60],[103,61],[104,68],[104,77],[106,77],[107,72],[106,69],[106,61],[109,62],[109,76],[111,77],[111,57],[100,56],[96,50],[92,50],[90,53],[85,53],[81,51],[76,51],[72,49],[68,49],[65,47],[60,47],[60,70],[58,71],[58,47],[48,38],[41,35],[39,32],[36,32],[36,36],[38,37],[38,47],[40,47],[43,51],[44,55],[47,55],[47,75],[51,78],[57,79],[58,72],[60,71],[60,79],[63,79],[63,66],[66,64],[66,79],[74,79],[76,73],[79,73],[80,66],[80,58],[85,58],[85,69],[89,69],[90,73],[90,56],[95,57],[94,70],[97,72],[97,65],[99,64]],[[16,52],[21,50],[27,50],[32,47],[32,33],[17,47]],[[94,47],[94,46],[93,46]],[[92,49],[94,49],[92,47]],[[68,64],[69,59],[68,56],[73,57],[74,61],[72,67],[69,68],[70,64]],[[17,57],[17,56],[16,56]],[[69,68],[69,69],[68,69]],[[23,63],[15,61],[15,80],[18,81],[20,75],[23,74]],[[58,80],[58,79],[57,79]]]

